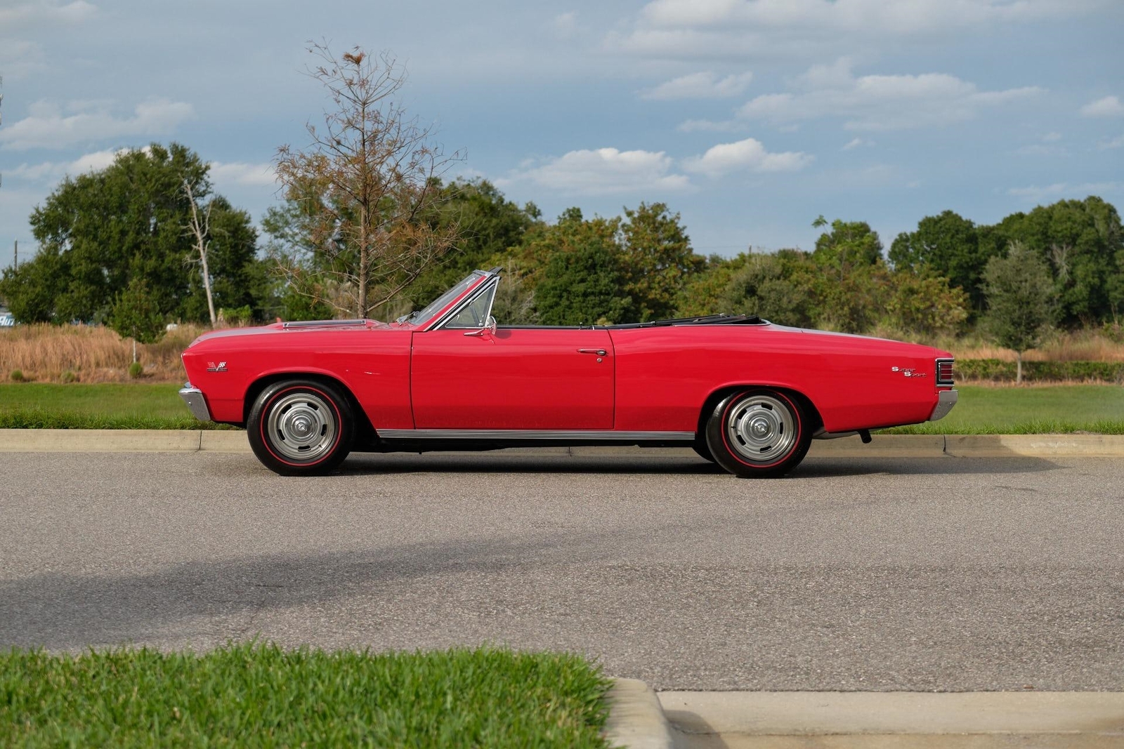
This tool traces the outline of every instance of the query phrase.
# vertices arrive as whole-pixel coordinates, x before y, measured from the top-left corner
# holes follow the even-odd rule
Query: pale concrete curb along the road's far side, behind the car
[[[250,453],[244,431],[172,429],[0,429],[0,453]],[[688,447],[518,447],[501,456],[695,457]],[[433,455],[464,455],[443,453]],[[877,435],[813,440],[812,458],[1124,457],[1124,435]]]

